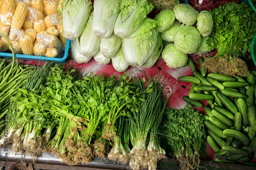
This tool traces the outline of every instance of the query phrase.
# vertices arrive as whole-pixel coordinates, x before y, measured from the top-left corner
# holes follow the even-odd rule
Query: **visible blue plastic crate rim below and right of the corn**
[[[44,56],[30,56],[30,55],[24,55],[24,54],[15,54],[15,58],[20,59],[20,60],[26,60],[26,61],[41,61],[41,62],[55,61],[55,62],[64,64],[66,62],[66,59],[68,58],[69,45],[70,45],[70,40],[67,39],[65,53],[64,53],[64,56],[61,58],[44,57]],[[12,53],[0,53],[0,57],[12,58]]]

